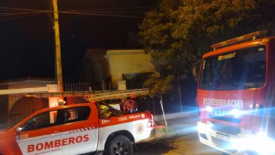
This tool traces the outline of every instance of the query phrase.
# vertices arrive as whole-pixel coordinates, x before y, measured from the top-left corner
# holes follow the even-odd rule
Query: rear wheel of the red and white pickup
[[[109,142],[106,148],[107,155],[132,155],[133,144],[128,137],[119,135]]]

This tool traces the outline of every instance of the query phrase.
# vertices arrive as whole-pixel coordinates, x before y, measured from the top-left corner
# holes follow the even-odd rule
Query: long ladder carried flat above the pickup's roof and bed
[[[82,91],[82,92],[37,92],[25,94],[25,97],[84,97],[87,101],[103,101],[106,99],[122,99],[126,97],[139,97],[148,94],[148,89],[129,89],[116,91]]]

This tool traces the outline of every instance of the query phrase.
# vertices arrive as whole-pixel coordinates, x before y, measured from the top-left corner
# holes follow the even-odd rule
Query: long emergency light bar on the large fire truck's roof
[[[243,35],[243,36],[240,36],[240,37],[236,37],[236,38],[233,38],[233,39],[226,40],[224,42],[219,42],[219,43],[213,44],[211,46],[211,48],[213,48],[215,50],[215,49],[218,49],[221,46],[228,46],[230,44],[235,44],[237,42],[242,42],[242,41],[250,39],[250,38],[252,38],[254,40],[254,39],[256,39],[257,36],[267,35],[267,32],[268,32],[268,30],[260,30],[260,31],[252,32],[252,33],[247,34],[247,35]]]

